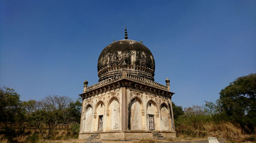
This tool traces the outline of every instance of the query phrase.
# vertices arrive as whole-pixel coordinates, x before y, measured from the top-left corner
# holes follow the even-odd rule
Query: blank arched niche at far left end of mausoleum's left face
[[[89,104],[86,106],[85,112],[84,112],[84,126],[83,126],[84,132],[92,131],[92,121],[93,121],[93,108]]]

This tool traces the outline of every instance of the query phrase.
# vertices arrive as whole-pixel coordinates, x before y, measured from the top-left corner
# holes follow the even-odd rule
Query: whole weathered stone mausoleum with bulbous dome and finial
[[[155,60],[141,42],[127,39],[99,55],[99,82],[84,81],[79,138],[126,140],[176,136],[170,92],[154,81]]]

